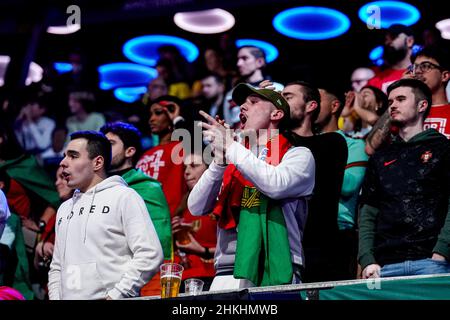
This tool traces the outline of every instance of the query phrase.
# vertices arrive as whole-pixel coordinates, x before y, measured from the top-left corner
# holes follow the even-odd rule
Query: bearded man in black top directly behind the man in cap
[[[305,270],[303,282],[343,280],[337,267],[338,207],[344,170],[347,164],[347,143],[337,132],[314,134],[321,108],[317,88],[303,81],[288,83],[283,97],[291,110],[290,141],[311,150],[316,163],[315,186],[308,203],[303,244]]]

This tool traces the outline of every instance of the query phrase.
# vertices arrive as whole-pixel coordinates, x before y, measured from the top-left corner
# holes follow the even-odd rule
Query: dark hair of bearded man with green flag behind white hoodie
[[[100,128],[100,132],[104,135],[111,132],[118,136],[120,140],[122,140],[125,149],[134,147],[136,149],[136,153],[133,155],[131,160],[133,162],[133,166],[136,165],[142,153],[142,134],[138,128],[129,123],[114,122],[105,124]]]

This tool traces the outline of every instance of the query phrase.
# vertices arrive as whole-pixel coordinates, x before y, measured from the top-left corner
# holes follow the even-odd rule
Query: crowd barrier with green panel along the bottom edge
[[[155,300],[158,296],[136,300]],[[450,300],[450,274],[316,282],[179,294],[171,300]]]

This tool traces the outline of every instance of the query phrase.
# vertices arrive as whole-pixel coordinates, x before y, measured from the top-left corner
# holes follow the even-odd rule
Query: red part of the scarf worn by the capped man
[[[267,143],[265,161],[274,166],[278,165],[291,146],[283,135],[273,137]],[[274,153],[273,150],[276,152]],[[213,214],[219,218],[220,228],[236,228],[236,217],[239,217],[245,186],[253,187],[253,184],[246,180],[233,164],[228,165],[223,176],[222,192],[213,210]]]

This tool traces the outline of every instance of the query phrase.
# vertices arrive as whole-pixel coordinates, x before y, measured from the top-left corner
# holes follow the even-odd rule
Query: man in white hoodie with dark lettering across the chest
[[[121,177],[107,178],[110,162],[103,134],[71,135],[60,165],[76,191],[57,213],[50,299],[138,296],[163,261],[144,201]]]

